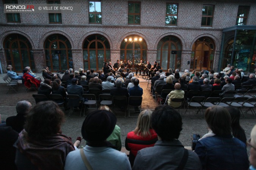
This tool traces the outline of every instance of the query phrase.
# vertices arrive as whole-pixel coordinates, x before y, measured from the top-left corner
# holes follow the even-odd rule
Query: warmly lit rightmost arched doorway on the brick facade
[[[215,45],[209,37],[201,37],[193,44],[190,71],[212,70]]]

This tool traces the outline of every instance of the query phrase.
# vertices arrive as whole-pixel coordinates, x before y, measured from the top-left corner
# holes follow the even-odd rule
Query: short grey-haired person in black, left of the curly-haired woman
[[[18,102],[16,105],[17,114],[16,116],[7,117],[6,126],[10,126],[13,128],[13,130],[20,133],[24,129],[26,115],[31,107],[31,103],[27,100]]]

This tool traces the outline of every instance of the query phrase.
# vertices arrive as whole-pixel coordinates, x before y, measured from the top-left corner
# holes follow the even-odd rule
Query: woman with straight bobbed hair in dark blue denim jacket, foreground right
[[[231,116],[221,106],[207,108],[205,120],[212,131],[196,144],[203,169],[247,170],[249,161],[246,145],[231,133]]]

